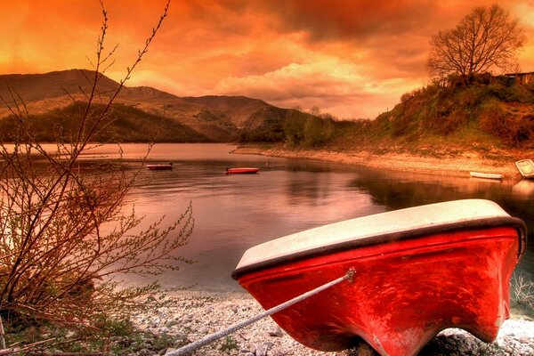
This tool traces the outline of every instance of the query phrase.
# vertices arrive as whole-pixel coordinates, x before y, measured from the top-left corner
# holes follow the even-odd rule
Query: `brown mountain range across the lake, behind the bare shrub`
[[[94,71],[69,69],[45,74],[0,75],[0,96],[13,107],[23,101],[34,121],[55,125],[86,102]],[[118,83],[99,74],[97,98],[103,105]],[[11,110],[2,102],[0,123]],[[95,107],[98,107],[96,101]],[[76,110],[74,110],[76,111]],[[119,93],[112,127],[98,137],[115,142],[234,142],[265,130],[279,130],[291,109],[245,96],[178,97],[149,86],[127,87]],[[63,120],[65,120],[63,118]],[[0,125],[1,126],[1,125]],[[44,132],[42,130],[42,132]],[[44,134],[42,139],[47,140]]]

